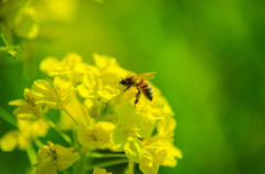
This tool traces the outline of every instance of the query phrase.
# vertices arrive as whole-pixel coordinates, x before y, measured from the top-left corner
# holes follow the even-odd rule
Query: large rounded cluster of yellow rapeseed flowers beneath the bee
[[[62,61],[45,58],[40,68],[49,78],[38,79],[30,89],[25,88],[23,100],[10,101],[17,106],[13,113],[18,130],[2,137],[1,149],[25,150],[52,127],[70,148],[50,141],[41,145],[34,165],[38,174],[55,174],[75,162],[84,164],[78,162],[84,156],[125,157],[123,162],[128,162],[130,173],[135,164],[145,174],[156,174],[161,165],[176,166],[177,157],[182,157],[173,144],[176,120],[159,89],[151,84],[153,100],[141,97],[135,106],[137,89],[130,87],[124,93],[126,87],[119,85],[132,72],[121,68],[114,57],[98,54],[93,57],[95,65],[84,63],[75,53]],[[60,116],[53,116],[60,117],[59,122],[46,117],[54,109],[60,111]],[[73,132],[72,138],[67,132]],[[99,153],[103,151],[109,154]],[[94,174],[109,173],[95,167]]]

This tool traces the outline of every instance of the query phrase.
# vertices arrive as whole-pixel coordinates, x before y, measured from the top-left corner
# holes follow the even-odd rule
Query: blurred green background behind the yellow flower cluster
[[[265,1],[82,0],[64,24],[42,29],[35,58],[0,57],[0,106],[22,98],[43,78],[40,61],[80,53],[117,58],[136,73],[157,72],[153,84],[178,122],[183,159],[159,173],[265,173]],[[12,126],[0,119],[0,137]],[[23,173],[26,153],[0,151],[1,173]]]

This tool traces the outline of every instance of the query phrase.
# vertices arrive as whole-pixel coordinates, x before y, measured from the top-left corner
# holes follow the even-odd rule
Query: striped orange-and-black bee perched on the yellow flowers
[[[155,78],[153,74],[156,73],[142,73],[138,75],[130,74],[119,81],[119,84],[127,87],[124,91],[128,90],[130,87],[137,88],[138,93],[136,94],[135,106],[139,101],[141,93],[148,100],[152,101],[153,93],[151,85],[148,83],[147,79]]]

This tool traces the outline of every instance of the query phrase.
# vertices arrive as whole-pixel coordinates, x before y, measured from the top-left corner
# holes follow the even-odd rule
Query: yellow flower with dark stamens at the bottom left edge
[[[56,174],[57,171],[63,171],[76,161],[80,160],[80,154],[74,152],[74,148],[64,148],[60,144],[53,144],[47,141],[38,153],[36,174]]]

